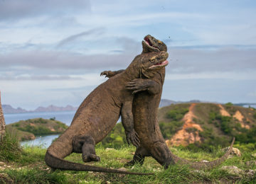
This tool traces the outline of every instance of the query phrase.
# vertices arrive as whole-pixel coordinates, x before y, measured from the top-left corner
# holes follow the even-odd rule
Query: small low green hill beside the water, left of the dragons
[[[46,120],[43,118],[21,120],[6,125],[6,130],[11,134],[16,134],[20,141],[35,139],[36,136],[46,134],[60,134],[68,128],[63,122],[54,120]]]

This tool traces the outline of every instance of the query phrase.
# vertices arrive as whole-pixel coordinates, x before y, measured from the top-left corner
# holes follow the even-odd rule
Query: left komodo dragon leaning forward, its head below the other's
[[[131,137],[136,135],[133,122],[127,120],[127,111],[132,110],[132,93],[127,91],[125,84],[131,79],[139,78],[142,72],[155,73],[154,67],[164,63],[167,52],[142,53],[134,58],[129,67],[122,74],[113,76],[105,83],[97,86],[78,108],[73,121],[58,139],[46,151],[45,161],[53,169],[73,171],[95,171],[105,173],[149,174],[118,171],[110,168],[88,166],[80,163],[65,161],[64,158],[73,152],[82,153],[83,161],[99,161],[95,154],[95,144],[102,141],[116,124],[120,113],[124,118],[124,128],[127,126]],[[164,66],[164,64],[162,64]],[[129,135],[128,135],[129,137]],[[130,139],[132,141],[132,139]],[[134,140],[134,144],[137,144]]]

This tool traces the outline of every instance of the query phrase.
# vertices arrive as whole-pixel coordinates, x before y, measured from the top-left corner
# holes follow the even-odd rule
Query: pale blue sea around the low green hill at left
[[[18,122],[19,120],[28,120],[33,118],[44,118],[50,119],[55,117],[55,120],[70,125],[75,115],[74,111],[60,111],[60,112],[43,112],[43,113],[17,113],[17,114],[4,114],[4,120],[6,125],[9,125],[13,122]],[[21,146],[41,146],[42,148],[48,148],[53,142],[53,139],[57,138],[59,134],[52,134],[47,136],[39,136],[34,140],[21,142]]]

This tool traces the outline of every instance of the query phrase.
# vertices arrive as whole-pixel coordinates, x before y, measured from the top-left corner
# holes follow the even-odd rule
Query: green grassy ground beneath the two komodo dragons
[[[124,146],[120,149],[105,149],[97,147],[96,152],[101,157],[100,163],[87,163],[105,168],[122,168],[124,163],[132,159],[134,146]],[[18,151],[18,150],[17,150]],[[223,152],[191,152],[183,148],[171,148],[174,154],[190,159],[191,161],[212,161],[223,155]],[[1,152],[1,151],[0,151]],[[234,156],[221,166],[238,166],[243,170],[256,169],[247,166],[246,161],[255,160],[253,151],[242,152],[241,157]],[[143,166],[127,168],[128,171],[154,173],[153,176],[131,176],[112,173],[93,173],[82,171],[51,171],[44,163],[46,149],[40,147],[24,147],[21,154],[11,159],[1,158],[5,166],[0,164],[0,183],[256,183],[256,176],[233,176],[220,170],[221,166],[210,171],[196,172],[187,166],[170,166],[164,170],[154,159],[146,158]],[[66,158],[69,161],[82,163],[80,154],[71,154]],[[3,165],[3,163],[2,163]]]

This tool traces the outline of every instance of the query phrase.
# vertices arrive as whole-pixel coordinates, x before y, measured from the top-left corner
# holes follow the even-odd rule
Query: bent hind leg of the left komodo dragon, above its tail
[[[91,136],[75,136],[72,144],[75,153],[82,153],[82,161],[100,161],[100,157],[95,153],[95,140]]]

